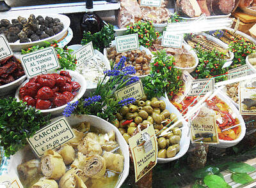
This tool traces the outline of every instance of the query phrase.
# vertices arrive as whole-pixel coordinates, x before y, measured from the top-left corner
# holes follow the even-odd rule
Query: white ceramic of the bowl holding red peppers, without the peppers
[[[81,97],[83,97],[84,92],[86,91],[86,87],[87,87],[87,83],[86,80],[84,79],[84,77],[82,75],[80,75],[79,73],[77,73],[76,71],[71,71],[71,70],[67,70],[70,74],[70,76],[72,76],[72,78],[74,78],[74,80],[76,80],[76,82],[78,82],[81,85],[81,88],[79,89],[79,92],[77,93],[77,96],[70,101],[70,103],[74,103],[75,101],[77,101],[78,99],[80,99]],[[54,72],[52,72],[54,73]],[[60,73],[60,71],[57,71],[57,73]],[[22,85],[20,85],[20,87],[16,90],[15,93],[15,98],[17,98],[17,101],[20,101],[19,98],[19,90],[21,87],[23,87],[26,83],[28,83],[29,80],[26,80],[25,82],[22,83]],[[40,110],[42,113],[51,113],[51,115],[60,115],[64,108],[66,108],[66,105],[63,106],[59,106],[56,108],[52,108],[52,109],[48,109],[48,110]]]

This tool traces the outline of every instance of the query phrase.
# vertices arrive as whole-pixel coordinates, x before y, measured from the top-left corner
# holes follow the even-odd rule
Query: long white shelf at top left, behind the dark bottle
[[[120,3],[108,3],[106,1],[94,1],[94,11],[118,10]],[[61,3],[61,4],[45,4],[36,6],[20,6],[13,7],[9,11],[0,12],[0,18],[16,17],[17,15],[28,14],[47,14],[47,13],[79,13],[85,11],[85,2],[81,3]]]

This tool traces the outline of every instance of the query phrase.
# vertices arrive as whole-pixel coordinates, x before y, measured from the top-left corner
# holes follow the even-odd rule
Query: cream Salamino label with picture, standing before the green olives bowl
[[[157,141],[154,126],[129,138],[129,145],[135,170],[135,182],[148,173],[157,164]]]

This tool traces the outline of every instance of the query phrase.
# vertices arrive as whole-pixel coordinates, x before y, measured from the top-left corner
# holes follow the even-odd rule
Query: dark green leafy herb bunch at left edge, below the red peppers
[[[0,146],[4,155],[10,157],[24,147],[26,138],[49,123],[50,116],[44,117],[39,110],[15,98],[0,99]]]

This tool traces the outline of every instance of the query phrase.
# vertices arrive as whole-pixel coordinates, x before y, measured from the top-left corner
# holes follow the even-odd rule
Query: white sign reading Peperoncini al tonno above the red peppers
[[[20,60],[28,78],[61,67],[54,47],[47,47],[29,54],[21,55]]]

